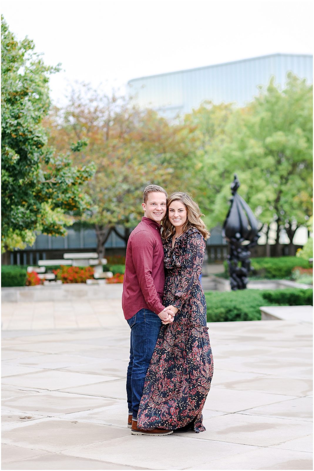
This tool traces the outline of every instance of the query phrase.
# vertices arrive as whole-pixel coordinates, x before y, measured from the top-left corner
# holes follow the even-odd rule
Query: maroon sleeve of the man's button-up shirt
[[[146,231],[140,231],[132,240],[132,259],[136,276],[149,309],[159,314],[165,306],[159,300],[152,277],[154,241]]]

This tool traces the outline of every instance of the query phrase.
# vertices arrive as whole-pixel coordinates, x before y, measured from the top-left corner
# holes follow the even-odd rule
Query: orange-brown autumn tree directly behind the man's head
[[[188,185],[184,169],[189,160],[189,131],[152,110],[139,110],[125,97],[100,94],[83,85],[72,90],[68,106],[55,109],[46,125],[57,148],[75,139],[88,141],[88,157],[75,155],[74,162],[93,159],[97,165],[86,186],[93,205],[81,220],[94,227],[100,256],[111,230],[127,242],[142,216],[146,185],[170,190]]]

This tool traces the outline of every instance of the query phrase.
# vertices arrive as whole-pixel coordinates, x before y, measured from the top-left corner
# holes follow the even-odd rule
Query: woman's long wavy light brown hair
[[[182,227],[183,232],[186,232],[190,227],[196,227],[196,229],[198,229],[203,235],[204,239],[208,239],[208,237],[210,237],[210,233],[201,219],[204,214],[201,213],[198,204],[193,200],[193,198],[187,193],[182,193],[181,191],[172,193],[167,200],[167,212],[163,219],[162,237],[164,239],[168,239],[175,233],[175,228],[169,219],[169,206],[173,201],[181,201],[187,209],[187,220]]]

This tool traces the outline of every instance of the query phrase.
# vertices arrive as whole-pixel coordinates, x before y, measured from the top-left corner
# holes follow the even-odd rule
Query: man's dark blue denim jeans
[[[141,309],[127,320],[131,327],[130,362],[126,375],[129,414],[137,419],[145,376],[161,327],[161,319],[149,309]]]

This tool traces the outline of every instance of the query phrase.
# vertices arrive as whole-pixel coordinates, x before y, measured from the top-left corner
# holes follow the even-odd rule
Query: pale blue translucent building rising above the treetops
[[[130,95],[141,107],[151,107],[166,118],[189,113],[202,101],[236,102],[244,106],[258,94],[258,85],[267,85],[275,75],[284,87],[291,71],[313,82],[313,56],[271,54],[196,69],[140,77],[128,82]]]

